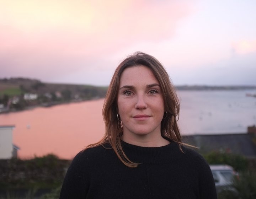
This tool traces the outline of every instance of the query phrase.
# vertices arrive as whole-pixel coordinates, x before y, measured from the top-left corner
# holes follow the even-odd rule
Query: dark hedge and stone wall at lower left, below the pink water
[[[2,161],[0,162],[0,190],[56,188],[62,184],[69,164],[69,160],[60,160],[52,154],[30,160]]]

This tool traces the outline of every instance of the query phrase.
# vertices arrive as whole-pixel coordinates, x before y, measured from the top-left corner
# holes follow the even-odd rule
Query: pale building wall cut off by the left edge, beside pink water
[[[10,159],[13,156],[12,129],[15,126],[0,126],[0,159]]]

